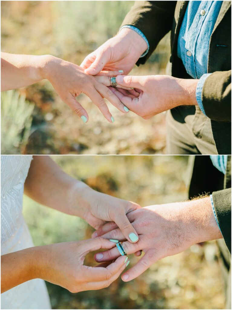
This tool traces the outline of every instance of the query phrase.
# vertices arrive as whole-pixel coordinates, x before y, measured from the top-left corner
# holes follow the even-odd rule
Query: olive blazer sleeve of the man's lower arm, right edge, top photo
[[[217,122],[231,122],[231,70],[208,76],[202,89],[205,114]]]

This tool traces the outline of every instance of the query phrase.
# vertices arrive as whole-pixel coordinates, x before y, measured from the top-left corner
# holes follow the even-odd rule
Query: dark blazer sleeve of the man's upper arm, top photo
[[[139,58],[137,64],[144,64],[160,40],[168,33],[173,24],[177,1],[135,1],[122,25],[137,27],[149,42],[147,55]]]

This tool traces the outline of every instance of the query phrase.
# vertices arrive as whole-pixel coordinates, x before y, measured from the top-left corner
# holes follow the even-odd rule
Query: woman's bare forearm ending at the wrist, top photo
[[[16,55],[1,53],[1,90],[25,87],[41,81],[50,55]]]

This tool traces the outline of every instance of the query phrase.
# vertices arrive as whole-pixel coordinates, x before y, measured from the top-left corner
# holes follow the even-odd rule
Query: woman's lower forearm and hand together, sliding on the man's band
[[[36,246],[2,255],[1,293],[35,278],[62,286],[72,293],[107,287],[125,269],[125,257],[96,267],[85,266],[84,259],[91,251],[114,246],[114,242],[98,237]]]

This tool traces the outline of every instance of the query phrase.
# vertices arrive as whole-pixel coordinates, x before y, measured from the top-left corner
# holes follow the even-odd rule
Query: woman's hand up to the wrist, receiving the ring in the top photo
[[[53,56],[48,56],[42,72],[43,78],[51,82],[63,102],[68,104],[81,117],[83,122],[88,121],[88,114],[76,100],[76,97],[81,93],[90,97],[105,118],[111,123],[114,122],[114,118],[103,98],[109,100],[121,112],[128,112],[124,109],[124,104],[120,102],[117,96],[104,85],[109,84],[109,78],[107,77],[103,77],[101,82],[98,82],[96,78],[86,74],[83,68]],[[107,72],[104,74],[106,75]],[[124,86],[121,87],[125,88]]]

